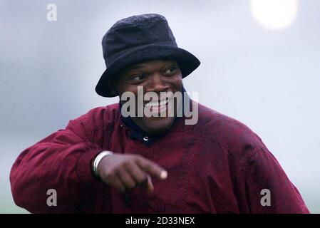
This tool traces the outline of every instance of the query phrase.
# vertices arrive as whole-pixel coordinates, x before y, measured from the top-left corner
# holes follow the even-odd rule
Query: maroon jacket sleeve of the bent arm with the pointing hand
[[[100,185],[91,173],[91,161],[102,150],[87,134],[78,118],[21,152],[10,173],[14,202],[33,213],[78,212]],[[47,203],[54,197],[52,190],[56,206]]]

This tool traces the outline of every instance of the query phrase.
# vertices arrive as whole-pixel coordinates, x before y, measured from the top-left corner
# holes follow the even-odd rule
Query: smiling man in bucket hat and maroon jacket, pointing
[[[17,205],[48,213],[309,213],[256,134],[188,101],[182,78],[200,61],[177,47],[163,16],[122,19],[102,44],[107,68],[96,92],[120,103],[24,150],[10,175]],[[139,104],[139,95],[161,93],[170,95]],[[188,108],[197,110],[196,123],[186,124]]]

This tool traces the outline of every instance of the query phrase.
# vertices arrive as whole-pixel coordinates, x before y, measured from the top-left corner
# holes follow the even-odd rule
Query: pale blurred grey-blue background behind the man
[[[94,90],[101,39],[115,21],[146,13],[164,15],[178,46],[200,58],[186,90],[254,130],[319,213],[319,10],[318,0],[0,0],[0,213],[26,213],[9,183],[22,150],[118,102]]]

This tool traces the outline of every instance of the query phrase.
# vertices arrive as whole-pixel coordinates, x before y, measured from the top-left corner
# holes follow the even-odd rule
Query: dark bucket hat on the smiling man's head
[[[175,37],[164,16],[142,14],[117,21],[103,36],[103,58],[106,70],[100,77],[96,92],[103,97],[115,97],[111,82],[125,67],[153,59],[174,59],[182,78],[200,65],[192,53],[177,47]]]

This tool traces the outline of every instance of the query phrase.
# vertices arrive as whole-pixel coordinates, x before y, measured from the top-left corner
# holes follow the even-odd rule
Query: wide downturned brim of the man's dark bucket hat
[[[182,72],[182,78],[185,78],[192,73],[192,71],[195,71],[195,69],[200,65],[200,61],[197,59],[197,57],[182,48],[162,46],[157,44],[150,44],[142,47],[140,46],[123,53],[123,55],[118,56],[118,58],[115,58],[115,60],[110,63],[110,66],[106,68],[105,72],[103,72],[103,75],[98,81],[96,92],[98,95],[107,98],[117,96],[117,93],[113,93],[113,91],[110,90],[110,82],[116,78],[117,73],[119,73],[123,68],[132,64],[162,58],[174,59],[177,61]]]

